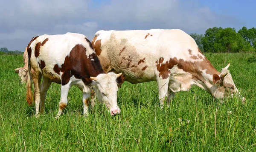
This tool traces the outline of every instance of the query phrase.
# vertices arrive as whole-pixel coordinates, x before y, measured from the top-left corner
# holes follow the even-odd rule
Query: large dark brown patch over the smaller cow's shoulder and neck
[[[94,61],[91,61],[93,59]],[[64,64],[61,65],[61,84],[65,85],[70,81],[71,76],[76,79],[82,79],[84,84],[90,84],[92,80],[90,76],[96,77],[101,73],[105,73],[100,65],[99,59],[95,53],[86,56],[86,48],[77,44],[70,51],[70,55],[66,56]]]

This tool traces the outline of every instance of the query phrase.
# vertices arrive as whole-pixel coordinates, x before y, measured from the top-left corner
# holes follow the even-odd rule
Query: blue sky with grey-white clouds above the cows
[[[0,0],[0,48],[24,51],[32,37],[99,30],[256,27],[255,0]]]

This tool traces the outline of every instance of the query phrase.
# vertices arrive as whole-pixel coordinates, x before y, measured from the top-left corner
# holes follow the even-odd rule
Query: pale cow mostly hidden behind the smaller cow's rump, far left
[[[25,51],[23,53],[23,62],[24,62],[24,66],[20,67],[20,68],[16,68],[15,73],[18,73],[18,76],[20,77],[20,83],[25,83],[27,81],[28,78],[28,52],[27,52],[27,48],[25,48]]]

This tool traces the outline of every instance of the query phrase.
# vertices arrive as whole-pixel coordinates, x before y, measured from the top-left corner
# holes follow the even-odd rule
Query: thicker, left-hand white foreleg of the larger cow
[[[162,79],[158,77],[157,86],[158,86],[159,101],[161,104],[161,108],[163,108],[164,101],[167,98],[168,84],[169,84],[169,77],[167,79]]]

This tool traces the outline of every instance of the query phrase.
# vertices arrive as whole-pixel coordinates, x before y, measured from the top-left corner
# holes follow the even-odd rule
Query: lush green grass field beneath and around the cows
[[[194,86],[176,93],[160,109],[156,82],[125,82],[118,92],[121,114],[96,104],[82,115],[82,94],[71,87],[69,104],[56,120],[60,85],[52,84],[46,112],[35,118],[26,103],[25,84],[14,68],[22,55],[0,55],[0,151],[256,151],[256,62],[252,53],[206,54],[220,71],[230,62],[236,87],[246,98],[213,99]]]

